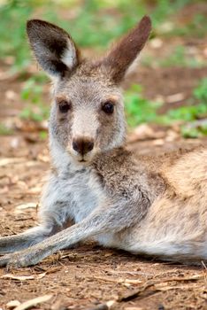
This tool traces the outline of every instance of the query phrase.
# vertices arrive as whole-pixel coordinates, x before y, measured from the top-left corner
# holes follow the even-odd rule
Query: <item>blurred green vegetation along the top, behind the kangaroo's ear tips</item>
[[[183,35],[195,35],[195,31],[201,31],[199,36],[202,36],[206,33],[202,14],[196,14],[186,27],[177,25],[176,20],[171,21],[172,29],[165,27],[166,20],[188,3],[190,0],[131,0],[130,5],[127,0],[117,0],[111,4],[107,0],[87,0],[84,3],[75,0],[8,0],[0,5],[0,57],[6,55],[13,58],[12,71],[24,70],[29,66],[31,57],[25,26],[27,19],[33,18],[35,12],[38,12],[38,17],[64,27],[82,47],[105,49],[111,40],[126,33],[146,13],[150,13],[153,20],[153,36],[173,35],[176,31],[183,31]],[[61,17],[63,14],[65,19]]]

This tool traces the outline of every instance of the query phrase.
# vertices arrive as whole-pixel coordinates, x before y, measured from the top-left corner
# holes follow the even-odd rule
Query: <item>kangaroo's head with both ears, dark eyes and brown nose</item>
[[[146,43],[145,16],[105,57],[82,59],[70,35],[60,27],[33,19],[27,35],[42,69],[53,80],[51,146],[66,156],[90,162],[97,153],[121,146],[126,136],[119,84]]]

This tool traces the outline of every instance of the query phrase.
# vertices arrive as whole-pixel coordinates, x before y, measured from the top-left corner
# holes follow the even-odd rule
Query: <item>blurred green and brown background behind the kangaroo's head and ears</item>
[[[157,89],[157,81],[150,92],[147,82],[141,86],[142,79],[132,77],[124,93],[129,127],[142,123],[166,127],[178,124],[182,136],[207,135],[206,1],[0,0],[0,66],[20,82],[19,118],[41,122],[49,114],[44,96],[48,81],[45,74],[34,69],[25,31],[27,19],[46,19],[64,27],[86,55],[91,56],[103,54],[114,39],[134,27],[144,14],[151,17],[153,31],[140,61],[141,77],[142,72],[149,73],[149,77],[151,72],[151,79],[154,79],[156,72],[177,68],[180,76],[188,72],[186,83],[189,87],[187,90],[180,88],[178,74],[174,78],[178,85],[167,93],[168,80],[161,74],[165,80],[164,93]],[[12,134],[12,128],[4,121],[1,123],[0,134]],[[44,137],[44,132],[41,135]]]

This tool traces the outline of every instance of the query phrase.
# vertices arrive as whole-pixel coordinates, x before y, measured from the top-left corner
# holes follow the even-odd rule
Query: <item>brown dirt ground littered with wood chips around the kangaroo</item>
[[[125,87],[142,81],[149,98],[180,92],[186,98],[206,74],[207,68],[142,67],[138,75],[131,75]],[[0,120],[14,128],[11,136],[0,136],[1,236],[34,226],[42,179],[50,167],[47,141],[38,137],[38,126],[19,119],[23,105],[19,97],[21,86],[22,81],[16,78],[0,81]],[[45,93],[47,90],[48,86]],[[206,138],[184,140],[176,128],[156,129],[154,135],[129,135],[128,147],[136,152],[159,154],[207,145]],[[112,306],[115,310],[206,309],[207,267],[166,263],[82,244],[58,252],[35,267],[0,269],[0,309],[12,309],[8,304],[12,300],[23,303],[44,295],[50,295],[48,300],[32,306],[34,309],[104,310],[112,304],[107,303],[111,300],[116,301]]]

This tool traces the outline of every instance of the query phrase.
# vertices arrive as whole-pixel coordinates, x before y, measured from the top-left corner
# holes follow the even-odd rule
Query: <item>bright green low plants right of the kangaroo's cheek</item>
[[[130,127],[143,122],[170,125],[179,122],[181,134],[185,137],[207,135],[207,121],[196,122],[207,118],[207,79],[203,79],[193,91],[188,105],[172,109],[165,114],[158,112],[161,103],[151,102],[142,96],[142,89],[134,85],[126,91],[126,117]],[[192,126],[190,125],[192,123]]]

